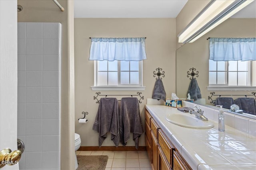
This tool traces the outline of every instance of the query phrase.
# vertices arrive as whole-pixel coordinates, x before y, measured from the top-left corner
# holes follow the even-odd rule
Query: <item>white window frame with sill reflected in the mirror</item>
[[[210,70],[208,69],[208,91],[234,91],[234,90],[239,90],[239,91],[251,91],[251,90],[255,90],[256,87],[255,86],[252,86],[252,62],[248,61],[247,62],[247,68],[248,68],[248,80],[247,80],[247,84],[246,86],[240,86],[240,85],[237,85],[237,86],[229,86],[228,85],[228,73],[230,71],[228,71],[228,61],[225,61],[225,67],[226,67],[226,70],[225,71],[219,71],[219,72],[225,72],[226,73],[226,84],[209,84],[209,73],[210,73]],[[217,67],[217,65],[216,65]],[[218,71],[216,71],[218,72]],[[231,71],[231,72],[246,72],[246,71]],[[216,81],[218,81],[216,79]]]

